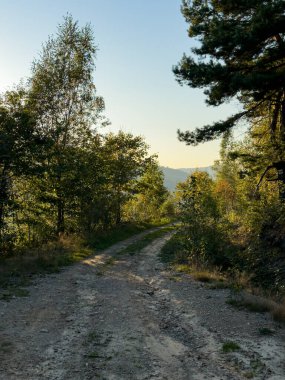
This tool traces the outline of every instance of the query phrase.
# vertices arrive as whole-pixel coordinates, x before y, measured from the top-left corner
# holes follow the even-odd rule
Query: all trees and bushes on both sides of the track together
[[[176,221],[170,261],[284,294],[284,2],[184,0],[181,9],[198,43],[173,67],[176,80],[204,89],[208,105],[240,103],[226,120],[178,131],[187,145],[221,139],[215,177],[195,172],[170,194],[142,137],[104,132],[94,35],[68,15],[28,81],[1,95],[1,261]]]

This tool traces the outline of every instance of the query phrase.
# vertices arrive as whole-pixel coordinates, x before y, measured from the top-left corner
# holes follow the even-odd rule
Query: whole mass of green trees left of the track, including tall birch
[[[1,257],[66,235],[92,236],[95,245],[100,236],[103,246],[112,229],[125,236],[123,223],[158,222],[173,211],[144,139],[99,133],[108,121],[93,82],[96,51],[90,26],[68,15],[28,83],[0,99]],[[44,261],[53,270],[69,256]]]

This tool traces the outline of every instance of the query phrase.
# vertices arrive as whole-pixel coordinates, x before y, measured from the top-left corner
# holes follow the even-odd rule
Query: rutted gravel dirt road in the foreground
[[[0,379],[284,380],[284,329],[227,305],[229,290],[166,270],[168,238],[116,254],[128,239],[0,302]],[[224,353],[227,341],[240,349]]]

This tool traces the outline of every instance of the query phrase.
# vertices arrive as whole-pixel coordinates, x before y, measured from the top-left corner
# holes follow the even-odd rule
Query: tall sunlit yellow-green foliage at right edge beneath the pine
[[[282,291],[285,220],[284,204],[279,197],[280,184],[268,181],[276,177],[275,173],[269,172],[258,192],[256,187],[264,162],[273,160],[276,152],[271,149],[269,137],[261,139],[255,130],[253,127],[245,141],[226,147],[224,157],[216,167],[217,199],[230,240],[238,248],[233,265],[246,271],[255,285]],[[239,173],[245,175],[239,176]],[[221,183],[226,183],[231,191],[220,191]]]

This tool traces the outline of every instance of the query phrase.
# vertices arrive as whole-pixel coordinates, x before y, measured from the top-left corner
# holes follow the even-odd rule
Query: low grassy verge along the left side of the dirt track
[[[152,228],[158,228],[158,230],[147,233]],[[65,266],[82,261],[115,243],[145,231],[146,235],[120,252],[120,255],[124,253],[133,255],[171,229],[173,227],[167,225],[164,227],[162,223],[121,224],[109,231],[104,231],[101,235],[97,234],[96,238],[91,236],[90,240],[76,235],[61,236],[40,247],[29,248],[22,254],[2,259],[0,261],[0,299],[26,297],[29,293],[25,287],[31,285],[34,276],[58,273]],[[115,258],[110,258],[110,260],[106,262],[106,266],[110,266]]]

